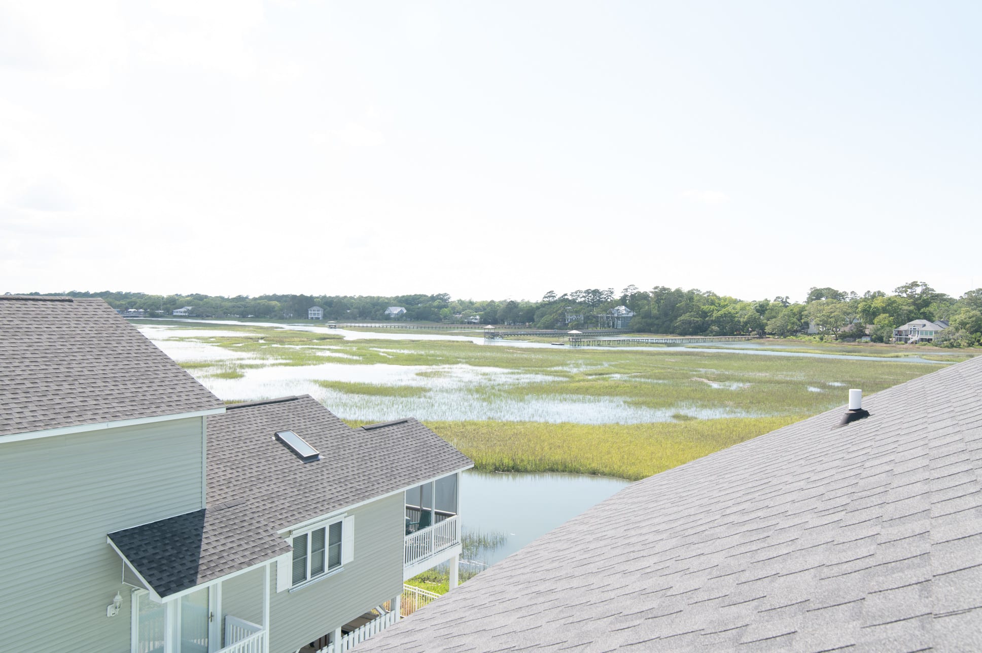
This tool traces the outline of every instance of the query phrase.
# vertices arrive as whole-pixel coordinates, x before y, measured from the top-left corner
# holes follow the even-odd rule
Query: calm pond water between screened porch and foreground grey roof
[[[470,469],[461,485],[461,523],[469,532],[503,535],[468,548],[469,567],[493,565],[607,499],[626,480],[582,474],[488,473]],[[466,568],[468,565],[465,564]]]

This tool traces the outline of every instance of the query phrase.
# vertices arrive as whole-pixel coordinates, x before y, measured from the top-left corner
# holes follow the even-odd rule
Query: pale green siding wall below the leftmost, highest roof
[[[202,420],[0,443],[0,649],[130,650],[106,534],[201,508]]]

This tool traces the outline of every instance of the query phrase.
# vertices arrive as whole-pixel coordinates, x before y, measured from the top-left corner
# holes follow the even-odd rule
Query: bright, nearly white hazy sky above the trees
[[[978,2],[0,0],[0,293],[982,286]]]

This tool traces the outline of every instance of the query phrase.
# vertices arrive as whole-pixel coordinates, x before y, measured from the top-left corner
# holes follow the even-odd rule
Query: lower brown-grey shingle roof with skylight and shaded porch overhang
[[[322,460],[301,461],[283,430]],[[414,419],[353,429],[308,395],[230,406],[207,441],[206,510],[109,536],[160,596],[290,551],[277,530],[472,464]]]

